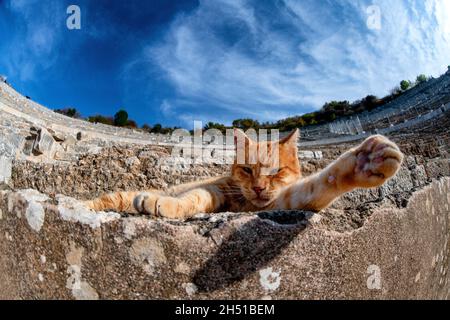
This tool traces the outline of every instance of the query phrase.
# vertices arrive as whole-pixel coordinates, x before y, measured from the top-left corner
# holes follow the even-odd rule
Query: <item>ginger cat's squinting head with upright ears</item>
[[[239,130],[236,130],[235,135],[237,139],[245,141],[245,157],[236,158],[232,178],[248,201],[256,207],[264,208],[278,197],[283,187],[301,176],[297,155],[298,130],[277,142],[257,143]],[[242,143],[241,146],[243,145]],[[267,157],[264,156],[266,154]],[[252,156],[255,157],[254,160]]]

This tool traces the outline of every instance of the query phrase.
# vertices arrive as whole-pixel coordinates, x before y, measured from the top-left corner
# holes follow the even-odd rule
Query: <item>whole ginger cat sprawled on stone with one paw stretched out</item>
[[[395,143],[375,135],[342,154],[322,171],[302,178],[297,156],[299,131],[277,141],[257,143],[240,130],[245,141],[245,163],[235,163],[231,175],[158,190],[117,192],[86,204],[93,210],[114,210],[187,219],[197,213],[249,212],[276,209],[320,211],[355,188],[381,186],[399,170],[403,154]],[[242,140],[240,140],[242,141]],[[249,150],[278,149],[278,166],[262,159],[249,161]],[[247,164],[254,163],[254,164]],[[268,171],[270,175],[263,175]]]

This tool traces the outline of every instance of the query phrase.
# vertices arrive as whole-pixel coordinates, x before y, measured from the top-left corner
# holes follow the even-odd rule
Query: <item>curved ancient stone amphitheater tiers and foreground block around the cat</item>
[[[171,162],[169,136],[67,118],[1,82],[0,298],[449,299],[449,109],[448,72],[380,110],[302,130],[305,175],[370,134],[396,141],[406,158],[381,188],[320,213],[177,221],[80,200],[227,165]]]

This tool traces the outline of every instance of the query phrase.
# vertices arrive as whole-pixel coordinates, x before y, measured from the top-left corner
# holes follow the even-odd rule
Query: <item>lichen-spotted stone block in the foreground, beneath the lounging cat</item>
[[[344,233],[303,212],[92,224],[81,204],[58,198],[40,202],[37,232],[26,212],[45,197],[4,192],[0,297],[449,299],[449,195],[442,178]]]

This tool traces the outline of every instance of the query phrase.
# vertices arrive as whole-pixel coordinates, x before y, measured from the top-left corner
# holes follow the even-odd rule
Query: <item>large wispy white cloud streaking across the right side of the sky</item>
[[[200,1],[177,17],[145,59],[161,68],[188,104],[220,118],[276,120],[332,99],[383,95],[403,78],[439,75],[450,63],[446,0],[292,1],[261,9],[250,1]],[[378,5],[381,30],[366,27]],[[201,108],[197,116],[210,116]]]

